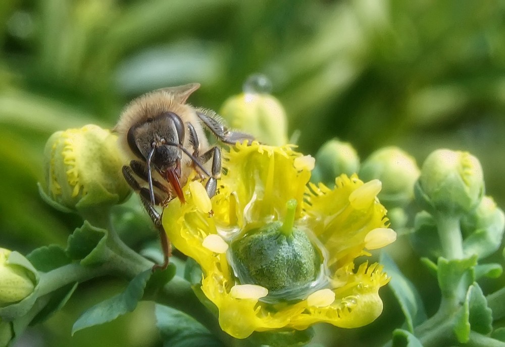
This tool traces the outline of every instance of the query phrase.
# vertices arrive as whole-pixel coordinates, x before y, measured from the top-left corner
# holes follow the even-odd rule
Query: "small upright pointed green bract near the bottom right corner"
[[[470,339],[470,330],[488,334],[492,330],[492,312],[477,283],[473,283],[466,295],[462,308],[455,316],[453,331],[461,343]]]

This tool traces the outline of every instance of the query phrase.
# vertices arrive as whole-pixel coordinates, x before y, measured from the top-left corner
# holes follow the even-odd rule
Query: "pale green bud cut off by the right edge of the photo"
[[[481,259],[498,250],[504,227],[503,211],[490,197],[482,198],[479,206],[461,219],[465,256],[477,255]]]

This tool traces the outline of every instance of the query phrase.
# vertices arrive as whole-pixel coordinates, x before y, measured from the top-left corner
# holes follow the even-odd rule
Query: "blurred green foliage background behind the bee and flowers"
[[[301,130],[302,152],[335,136],[362,158],[385,145],[418,163],[435,148],[468,150],[481,160],[488,194],[505,206],[504,1],[2,0],[0,24],[2,247],[64,245],[81,223],[38,196],[53,132],[111,128],[131,98],[189,82],[202,85],[191,103],[218,110],[253,73],[270,78],[290,134]],[[116,286],[83,285],[71,308],[19,345],[84,346],[86,334],[96,346],[161,345],[148,305],[70,339],[91,288],[110,295]],[[323,340],[371,345],[360,331],[374,329],[387,340],[383,326],[402,318],[382,293],[388,322],[322,329]]]

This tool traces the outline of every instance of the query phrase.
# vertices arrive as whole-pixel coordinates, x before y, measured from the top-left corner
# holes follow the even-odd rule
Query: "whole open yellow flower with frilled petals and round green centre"
[[[245,338],[375,320],[389,278],[379,264],[355,271],[354,260],[395,239],[376,198],[380,182],[342,175],[334,189],[308,184],[314,159],[291,145],[237,144],[223,156],[211,210],[193,181],[184,187],[187,203],[175,199],[163,213],[174,246],[200,265],[201,291],[221,328]]]

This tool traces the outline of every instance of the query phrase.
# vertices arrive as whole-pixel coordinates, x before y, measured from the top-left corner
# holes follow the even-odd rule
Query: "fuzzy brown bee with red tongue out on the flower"
[[[221,142],[254,140],[251,135],[229,130],[219,115],[209,109],[186,103],[198,83],[158,89],[146,93],[126,106],[114,131],[118,143],[128,155],[123,176],[139,193],[140,200],[159,230],[166,268],[171,254],[170,242],[155,206],[165,206],[178,198],[185,203],[182,187],[193,170],[205,185],[209,197],[214,196],[221,175],[221,150],[211,146],[204,129]]]

